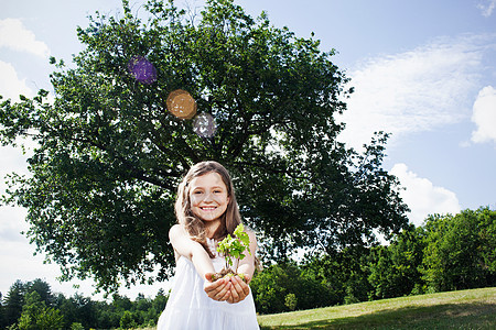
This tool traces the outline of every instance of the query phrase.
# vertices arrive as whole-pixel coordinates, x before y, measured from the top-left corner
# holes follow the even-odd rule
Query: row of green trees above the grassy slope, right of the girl
[[[496,211],[430,216],[389,245],[270,265],[250,286],[261,314],[496,286]]]

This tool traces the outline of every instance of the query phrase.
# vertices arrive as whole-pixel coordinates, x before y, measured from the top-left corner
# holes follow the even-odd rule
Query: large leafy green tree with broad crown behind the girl
[[[85,50],[73,65],[52,58],[53,102],[40,90],[0,107],[3,144],[37,142],[31,175],[13,176],[7,199],[28,209],[28,235],[65,279],[112,289],[166,278],[175,187],[203,160],[233,173],[266,258],[363,245],[374,229],[406,224],[397,180],[381,167],[387,135],[363,153],[337,141],[351,90],[333,50],[229,0],[207,1],[198,16],[173,1],[144,9],[140,19],[123,1],[120,18],[96,14],[78,29]],[[157,79],[129,72],[144,57]],[[215,118],[215,135],[168,111],[175,89]]]

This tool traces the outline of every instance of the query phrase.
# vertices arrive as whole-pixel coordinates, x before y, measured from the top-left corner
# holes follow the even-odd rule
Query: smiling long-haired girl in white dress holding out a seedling
[[[158,330],[259,329],[248,284],[238,276],[212,280],[225,265],[216,244],[241,223],[229,174],[216,162],[194,165],[177,189],[179,224],[169,231],[175,278]],[[257,241],[248,231],[251,255],[239,262],[247,283],[255,272]]]

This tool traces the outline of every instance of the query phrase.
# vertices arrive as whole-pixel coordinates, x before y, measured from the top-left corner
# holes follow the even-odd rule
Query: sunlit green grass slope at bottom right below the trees
[[[496,287],[258,317],[261,329],[496,329]]]

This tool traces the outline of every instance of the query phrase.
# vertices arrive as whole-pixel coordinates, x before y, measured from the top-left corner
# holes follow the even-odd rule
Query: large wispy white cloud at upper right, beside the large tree
[[[493,37],[494,38],[494,37]],[[355,92],[342,117],[342,140],[359,147],[375,131],[429,131],[470,117],[482,58],[494,43],[482,36],[436,41],[410,52],[371,58],[352,70]]]

